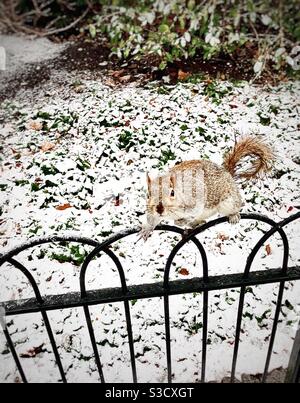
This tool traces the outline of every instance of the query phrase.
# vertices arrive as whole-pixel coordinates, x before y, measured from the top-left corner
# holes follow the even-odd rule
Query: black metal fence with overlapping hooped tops
[[[202,328],[202,368],[201,368],[201,381],[205,382],[205,373],[206,373],[206,355],[207,355],[207,336],[208,336],[208,297],[209,292],[212,290],[222,290],[228,288],[239,288],[240,289],[240,297],[239,297],[239,305],[238,312],[236,318],[236,328],[235,328],[235,341],[234,341],[234,349],[233,349],[233,357],[232,357],[232,369],[231,369],[231,382],[235,380],[235,372],[236,372],[236,364],[239,352],[239,342],[240,342],[240,334],[241,334],[241,324],[243,318],[243,308],[244,308],[244,300],[246,294],[246,288],[252,285],[260,285],[260,284],[268,284],[268,283],[278,283],[279,284],[279,292],[277,296],[276,309],[273,318],[273,325],[270,334],[270,339],[268,342],[268,346],[266,348],[266,361],[265,368],[262,375],[262,382],[266,381],[270,359],[273,351],[274,340],[277,331],[277,325],[279,321],[280,311],[282,307],[283,293],[284,293],[284,285],[286,281],[294,281],[300,280],[300,267],[290,267],[288,264],[289,260],[289,240],[284,231],[284,227],[291,222],[300,218],[300,212],[290,216],[289,218],[276,223],[273,220],[257,215],[257,214],[242,214],[242,219],[247,220],[256,220],[260,222],[264,222],[270,226],[270,229],[264,233],[261,239],[256,243],[255,247],[252,249],[250,255],[247,258],[246,266],[244,272],[241,274],[230,274],[230,275],[222,275],[222,276],[209,276],[208,270],[208,260],[206,251],[199,241],[196,238],[196,235],[202,233],[203,231],[216,226],[220,223],[226,222],[226,218],[218,218],[216,220],[210,221],[201,227],[193,230],[188,235],[184,235],[183,230],[173,226],[162,225],[157,228],[157,230],[171,231],[181,235],[184,235],[182,239],[176,244],[176,246],[172,249],[165,265],[164,271],[164,280],[163,282],[151,283],[151,284],[142,284],[142,285],[134,285],[127,286],[124,270],[120,259],[118,256],[112,251],[110,246],[116,241],[125,238],[129,235],[136,233],[138,230],[129,230],[126,232],[119,233],[106,241],[99,244],[98,242],[82,237],[49,237],[49,238],[40,238],[36,240],[32,240],[27,242],[19,247],[14,248],[9,251],[5,255],[0,257],[0,269],[4,263],[9,263],[14,266],[18,270],[20,270],[28,279],[29,283],[32,286],[33,292],[35,294],[35,298],[26,299],[26,300],[18,300],[18,301],[7,301],[2,303],[2,307],[5,310],[7,316],[11,315],[22,315],[33,312],[40,312],[47,329],[47,333],[49,336],[49,340],[53,349],[53,353],[55,356],[55,360],[57,363],[58,370],[60,372],[61,380],[63,382],[67,382],[66,375],[64,372],[63,364],[61,361],[61,357],[58,351],[58,347],[56,345],[53,331],[51,328],[50,321],[48,319],[47,312],[50,310],[62,310],[66,308],[72,307],[82,307],[85,314],[86,324],[93,348],[94,358],[97,365],[97,369],[99,371],[99,378],[101,382],[105,382],[105,374],[103,373],[103,367],[101,363],[101,357],[99,354],[99,350],[96,344],[95,332],[91,320],[90,309],[89,307],[97,304],[104,304],[110,302],[120,302],[124,303],[125,308],[125,316],[126,316],[126,324],[127,324],[127,333],[128,333],[128,345],[130,351],[130,359],[131,359],[131,370],[132,370],[132,379],[133,382],[138,382],[138,374],[136,370],[136,362],[135,362],[135,352],[134,352],[134,340],[132,333],[132,323],[131,323],[131,313],[130,313],[130,300],[137,300],[142,298],[153,298],[153,297],[163,297],[164,299],[164,318],[165,318],[165,340],[166,340],[166,367],[168,371],[168,382],[172,382],[172,349],[171,349],[171,339],[170,339],[170,314],[169,314],[169,297],[175,294],[186,294],[186,293],[194,293],[194,292],[202,292],[203,297],[203,328]],[[260,271],[251,271],[253,260],[259,251],[259,249],[264,245],[264,243],[274,234],[278,233],[282,240],[283,245],[283,259],[282,265],[280,268],[269,269],[269,270],[260,270]],[[93,246],[94,249],[82,264],[80,271],[80,292],[71,292],[62,295],[51,295],[43,297],[39,291],[39,287],[30,273],[30,271],[20,262],[16,260],[16,256],[37,245],[42,245],[46,243],[53,242],[78,242],[85,245]],[[170,281],[170,269],[172,262],[179,252],[179,250],[187,243],[193,242],[196,246],[199,254],[202,258],[202,267],[203,273],[201,276],[192,279],[186,280],[175,280]],[[100,253],[105,253],[109,256],[112,262],[115,264],[120,281],[121,287],[119,288],[106,288],[106,289],[97,289],[97,290],[87,290],[86,289],[86,273],[89,267],[90,262],[96,258]],[[300,297],[299,297],[300,298]],[[300,300],[300,299],[299,299]],[[300,318],[299,318],[300,319]],[[4,326],[4,334],[7,340],[7,344],[13,355],[16,366],[19,370],[20,376],[23,382],[27,382],[26,374],[22,368],[20,358],[16,352],[14,343],[12,342],[11,335],[9,334],[8,329]],[[298,331],[293,350],[290,357],[289,368],[287,371],[286,382],[299,382],[300,381],[300,332]]]

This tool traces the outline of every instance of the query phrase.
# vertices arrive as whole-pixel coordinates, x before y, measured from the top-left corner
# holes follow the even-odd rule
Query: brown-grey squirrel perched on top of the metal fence
[[[240,171],[238,165],[245,157],[251,158],[251,166]],[[141,237],[146,240],[162,220],[194,228],[220,213],[230,223],[237,223],[244,203],[235,179],[251,180],[264,175],[274,159],[271,147],[258,137],[248,136],[225,155],[222,166],[209,160],[192,160],[154,179],[147,174],[147,221]]]

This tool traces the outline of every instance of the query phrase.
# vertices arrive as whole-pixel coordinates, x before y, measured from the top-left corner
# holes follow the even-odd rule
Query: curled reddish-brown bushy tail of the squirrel
[[[251,166],[246,169],[239,169],[238,165],[245,157],[251,158]],[[264,175],[272,167],[275,154],[262,139],[249,136],[241,138],[233,150],[225,155],[223,166],[236,178],[253,179]]]

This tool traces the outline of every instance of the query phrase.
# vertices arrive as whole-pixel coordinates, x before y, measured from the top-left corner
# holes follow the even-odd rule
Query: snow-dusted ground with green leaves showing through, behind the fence
[[[222,156],[235,135],[260,134],[273,145],[277,161],[270,177],[241,184],[243,212],[265,214],[275,221],[299,208],[299,91],[297,82],[262,88],[247,83],[155,83],[114,86],[102,79],[64,74],[65,85],[52,80],[34,91],[22,91],[1,105],[1,253],[28,238],[51,234],[106,239],[144,219],[146,176],[176,161]],[[209,87],[212,89],[212,87]],[[116,202],[116,196],[120,202]],[[208,254],[209,274],[242,272],[251,248],[268,229],[255,221],[222,224],[199,235]],[[290,265],[299,265],[299,220],[286,227]],[[114,244],[128,285],[161,281],[168,253],[178,237],[155,233],[135,245],[135,235]],[[268,246],[267,246],[268,245]],[[277,235],[265,245],[253,269],[280,267],[282,244]],[[45,245],[24,252],[42,294],[79,290],[80,263],[89,247]],[[186,270],[181,270],[185,268]],[[171,279],[201,273],[201,259],[188,244],[175,259]],[[28,298],[24,278],[8,265],[0,271],[0,300]],[[119,286],[107,257],[92,262],[89,289]],[[278,286],[249,288],[246,294],[237,376],[262,372]],[[287,366],[300,314],[300,284],[286,284],[281,321],[270,369]],[[239,291],[210,292],[207,380],[220,380],[231,367]],[[174,381],[200,379],[201,295],[170,298]],[[131,381],[126,322],[122,304],[91,308],[107,381]],[[165,382],[166,354],[163,300],[131,302],[138,380]],[[98,379],[82,309],[49,313],[67,379]],[[38,314],[8,318],[17,351],[42,346],[22,358],[31,381],[56,382],[59,373]],[[26,371],[27,370],[27,371]],[[18,377],[0,334],[0,381]]]

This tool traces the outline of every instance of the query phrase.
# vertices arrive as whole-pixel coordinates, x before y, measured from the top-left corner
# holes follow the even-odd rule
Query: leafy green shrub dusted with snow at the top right
[[[105,35],[112,55],[120,59],[154,56],[157,66],[164,69],[167,63],[196,54],[209,60],[220,53],[232,55],[248,49],[256,74],[267,64],[277,70],[298,69],[300,14],[296,0],[101,3],[101,14],[88,26],[90,35]]]

